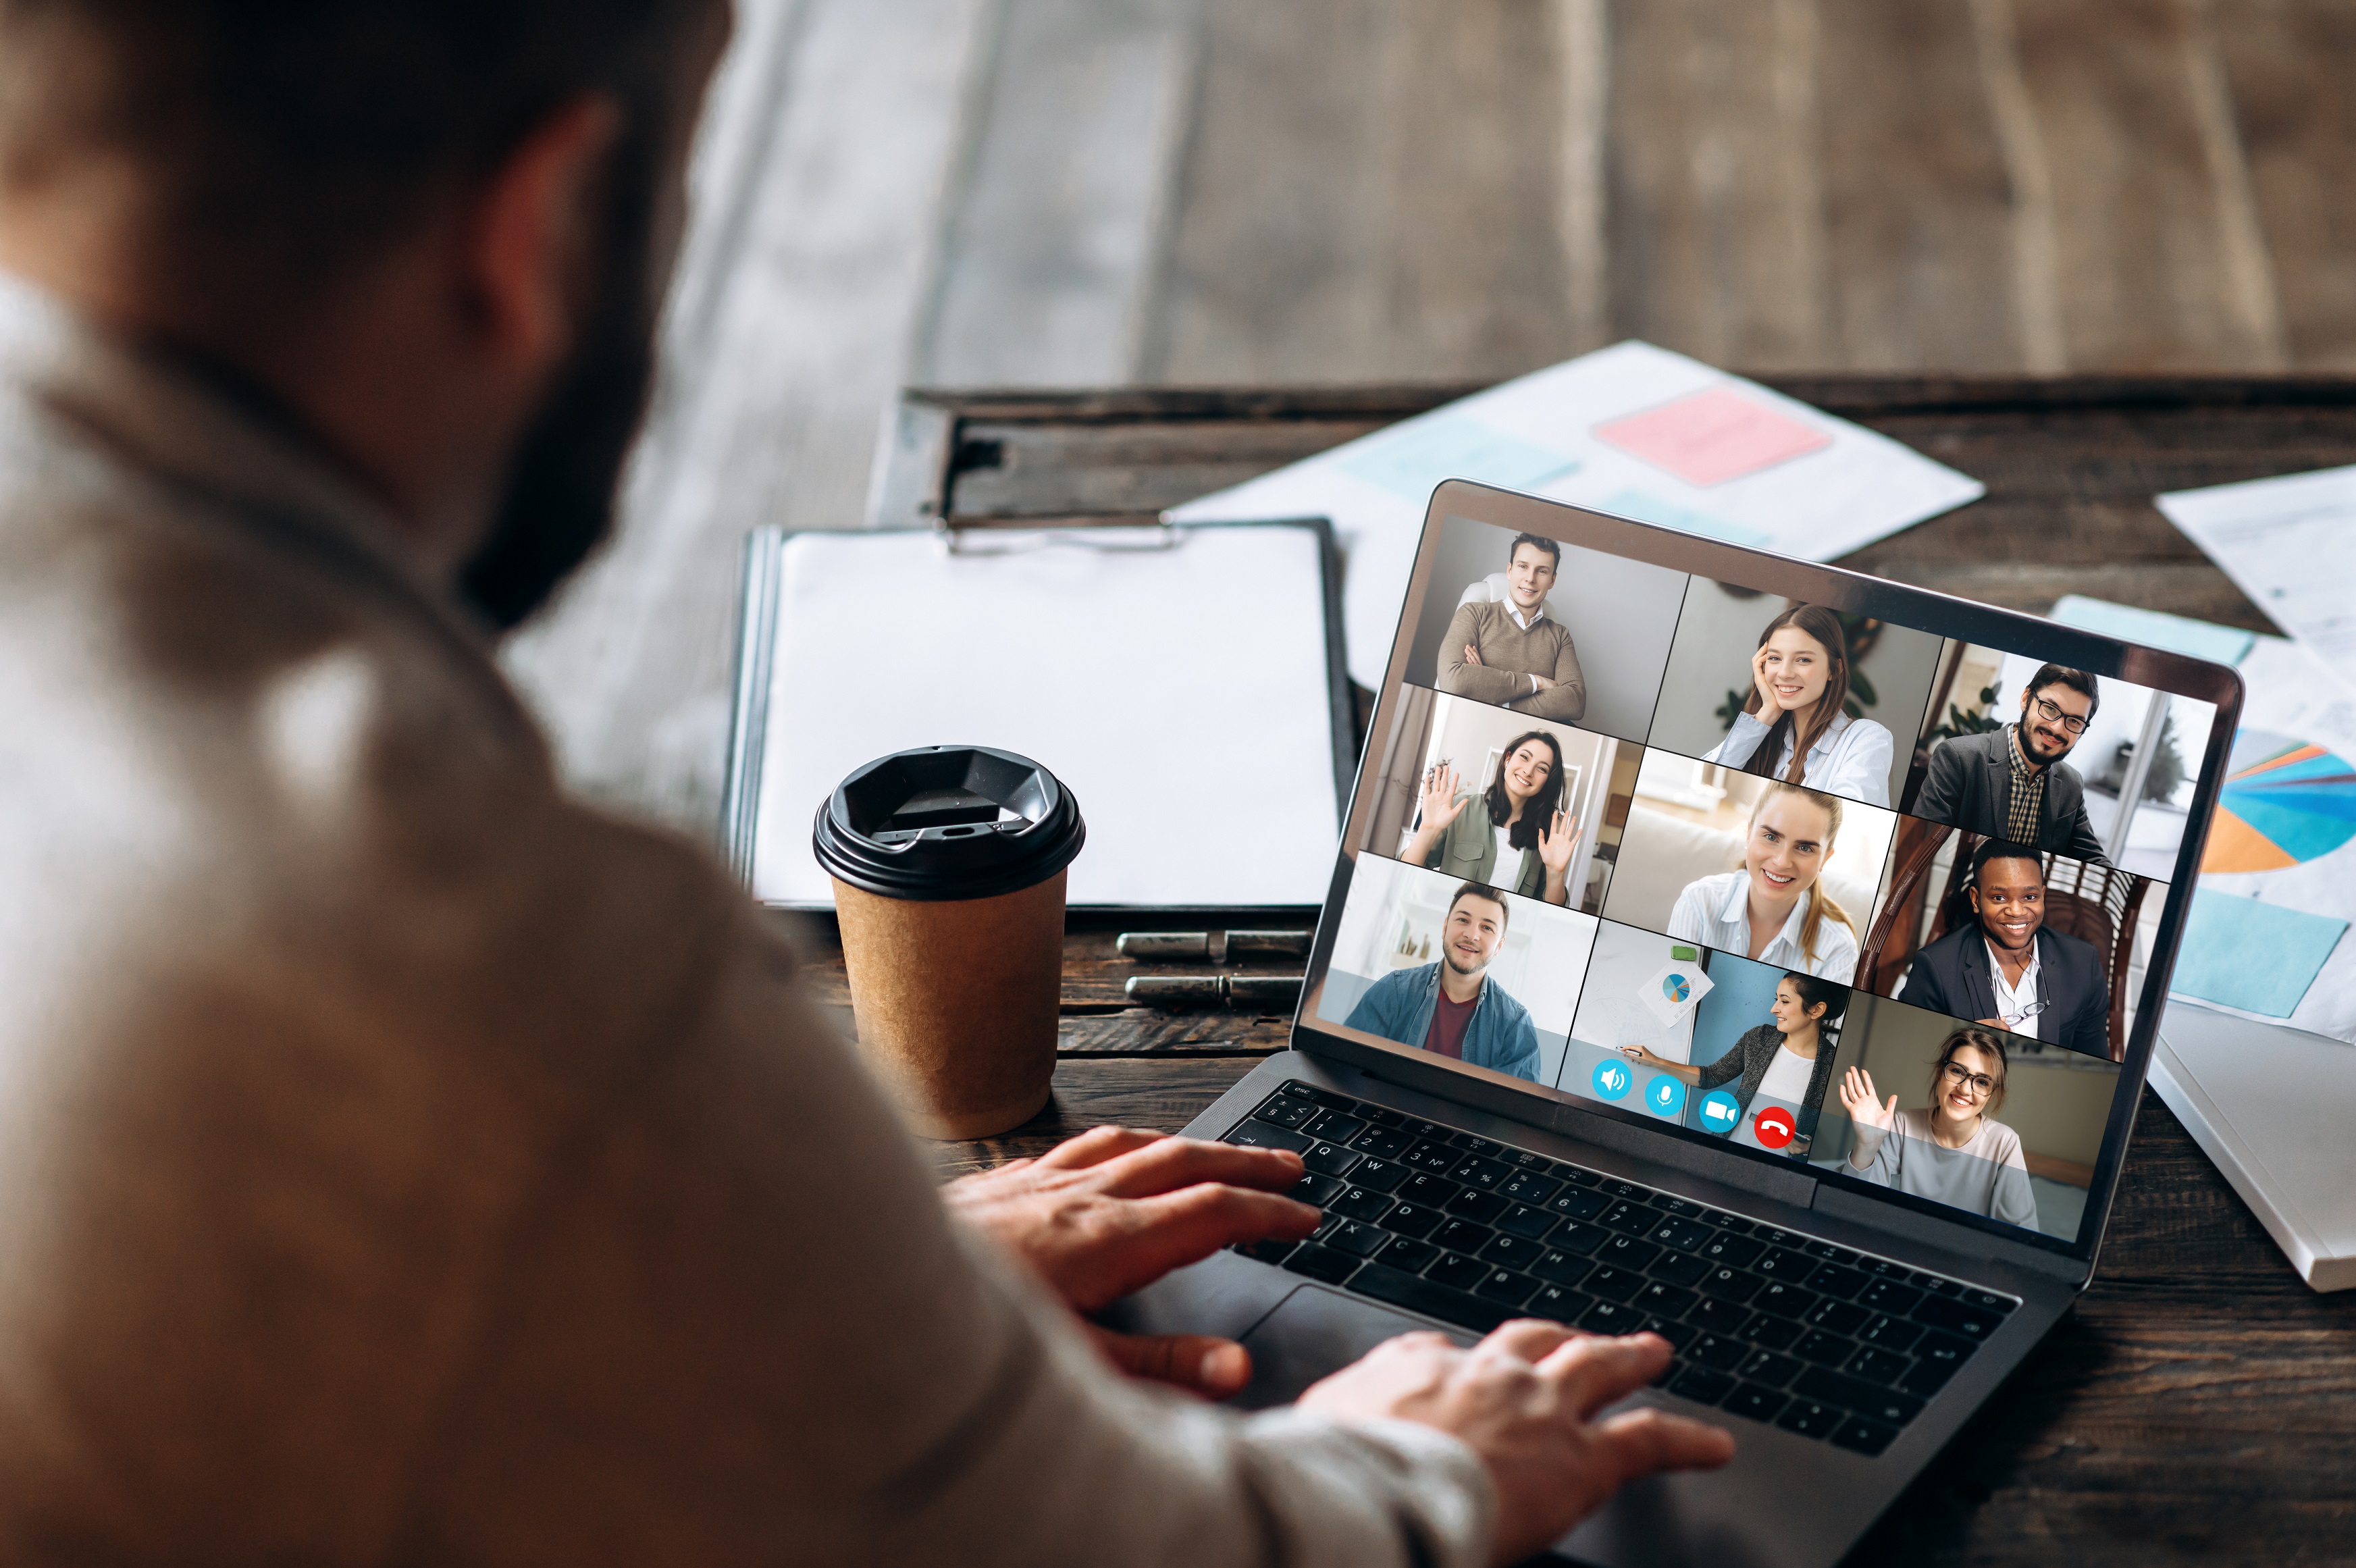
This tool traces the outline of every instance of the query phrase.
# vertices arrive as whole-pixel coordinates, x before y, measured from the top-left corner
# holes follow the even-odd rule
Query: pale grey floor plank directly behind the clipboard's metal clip
[[[916,374],[1131,381],[1185,151],[1204,0],[1008,0],[949,198]]]

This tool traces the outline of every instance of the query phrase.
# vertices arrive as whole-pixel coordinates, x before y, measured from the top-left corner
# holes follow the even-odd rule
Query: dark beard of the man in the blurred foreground
[[[641,153],[631,158],[631,153]],[[655,381],[655,172],[617,148],[598,292],[556,393],[525,431],[459,593],[497,631],[523,624],[613,532],[622,464]]]

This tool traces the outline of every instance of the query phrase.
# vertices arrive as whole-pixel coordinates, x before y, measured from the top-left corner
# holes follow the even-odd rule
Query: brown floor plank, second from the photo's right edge
[[[2062,360],[2266,370],[2281,311],[2198,0],[1984,0],[2010,19],[2052,193]],[[2003,28],[1993,28],[2003,31]]]

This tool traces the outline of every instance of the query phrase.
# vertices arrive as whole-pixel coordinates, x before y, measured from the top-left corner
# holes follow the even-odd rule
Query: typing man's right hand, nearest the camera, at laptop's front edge
[[[1715,1469],[1734,1457],[1718,1427],[1626,1410],[1595,1413],[1668,1366],[1656,1335],[1600,1340],[1560,1323],[1505,1323],[1472,1349],[1447,1335],[1374,1347],[1301,1396],[1333,1420],[1409,1420],[1463,1439],[1496,1483],[1491,1561],[1543,1552],[1626,1481],[1663,1469]]]

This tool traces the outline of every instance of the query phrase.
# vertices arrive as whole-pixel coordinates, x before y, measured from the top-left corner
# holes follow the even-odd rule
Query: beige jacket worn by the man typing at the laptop
[[[372,506],[0,280],[0,1559],[1470,1563],[1126,1384]]]

